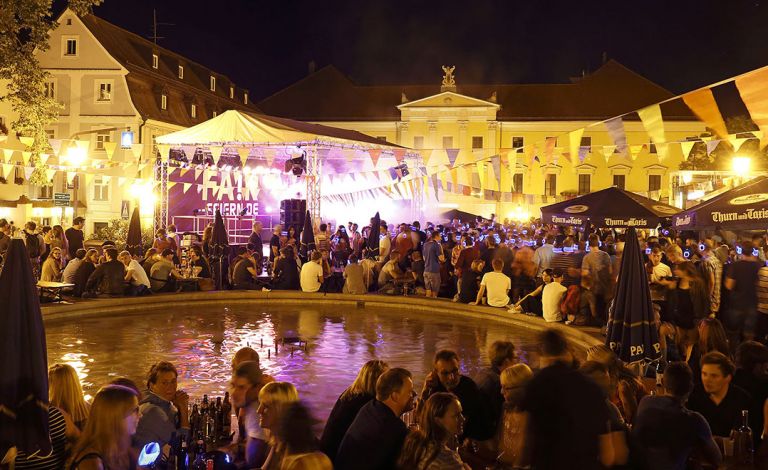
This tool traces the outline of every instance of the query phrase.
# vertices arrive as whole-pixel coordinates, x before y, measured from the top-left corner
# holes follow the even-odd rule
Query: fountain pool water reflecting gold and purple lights
[[[438,349],[456,350],[462,372],[471,376],[486,366],[486,350],[493,341],[512,341],[523,359],[534,341],[528,330],[435,313],[277,306],[268,311],[213,307],[51,323],[46,335],[49,363],[72,365],[91,395],[116,376],[129,377],[143,388],[146,372],[159,360],[176,364],[179,385],[193,398],[222,395],[232,356],[250,346],[258,351],[265,372],[296,385],[322,419],[367,360],[379,358],[405,367],[421,387]],[[306,340],[307,350],[276,345],[286,337]]]

